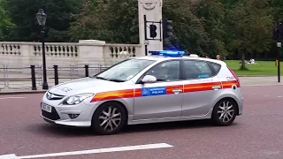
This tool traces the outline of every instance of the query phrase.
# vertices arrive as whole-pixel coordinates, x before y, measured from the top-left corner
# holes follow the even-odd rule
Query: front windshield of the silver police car
[[[111,68],[103,72],[96,74],[93,78],[123,82],[134,78],[136,74],[142,72],[143,69],[154,62],[155,60],[148,59],[127,59],[119,64],[111,66]]]

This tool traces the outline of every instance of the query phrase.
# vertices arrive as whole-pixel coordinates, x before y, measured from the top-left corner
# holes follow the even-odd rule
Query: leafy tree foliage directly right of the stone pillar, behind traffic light
[[[207,53],[209,34],[205,32],[202,20],[193,14],[191,1],[164,0],[163,3],[163,19],[173,21],[173,36],[165,39],[165,46],[173,45],[198,55]]]

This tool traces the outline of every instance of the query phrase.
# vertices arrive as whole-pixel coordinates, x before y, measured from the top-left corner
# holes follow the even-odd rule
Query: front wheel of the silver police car
[[[126,123],[126,112],[118,102],[105,102],[92,117],[92,129],[97,134],[119,133]]]

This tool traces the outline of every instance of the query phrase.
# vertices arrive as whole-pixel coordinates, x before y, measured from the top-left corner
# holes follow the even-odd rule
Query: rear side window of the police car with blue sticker
[[[185,79],[204,79],[210,78],[213,75],[209,64],[205,61],[184,61],[184,72]]]

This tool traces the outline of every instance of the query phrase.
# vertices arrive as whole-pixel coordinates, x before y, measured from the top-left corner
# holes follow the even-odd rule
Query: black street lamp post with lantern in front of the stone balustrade
[[[41,36],[42,36],[42,63],[43,63],[43,84],[42,89],[48,89],[47,78],[46,78],[46,59],[45,59],[45,46],[44,46],[44,27],[46,22],[47,15],[44,13],[43,9],[39,9],[36,14],[36,19],[41,27]]]

